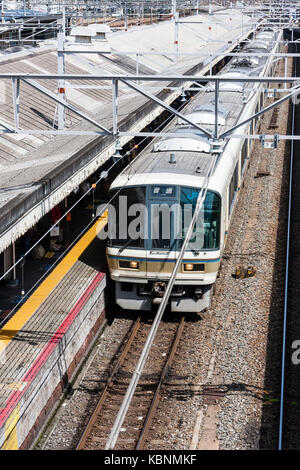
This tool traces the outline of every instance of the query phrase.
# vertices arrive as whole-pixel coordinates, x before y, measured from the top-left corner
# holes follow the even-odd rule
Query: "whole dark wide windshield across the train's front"
[[[175,185],[127,187],[109,209],[110,246],[180,250],[193,216],[199,188]],[[188,250],[216,250],[220,245],[221,198],[207,191]]]

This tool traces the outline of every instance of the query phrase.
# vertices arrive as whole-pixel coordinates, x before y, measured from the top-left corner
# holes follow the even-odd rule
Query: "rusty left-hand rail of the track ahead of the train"
[[[119,368],[122,366],[122,364],[124,363],[125,359],[126,359],[126,356],[127,356],[127,353],[129,351],[129,348],[131,347],[136,335],[137,335],[137,332],[139,330],[141,326],[141,317],[138,317],[132,330],[131,330],[131,334],[130,334],[130,337],[128,339],[128,341],[126,342],[126,345],[125,345],[125,348],[123,349],[118,361],[116,362],[107,382],[106,382],[106,385],[104,387],[104,389],[102,390],[102,393],[101,393],[101,396],[99,398],[99,401],[97,403],[97,406],[96,408],[94,409],[89,421],[88,421],[88,424],[86,425],[86,428],[84,429],[83,431],[83,434],[80,438],[80,441],[76,447],[76,450],[83,450],[85,445],[86,445],[86,442],[90,436],[90,433],[91,433],[91,429],[93,427],[93,425],[95,424],[95,421],[100,413],[100,410],[103,406],[103,403],[106,399],[106,396],[107,396],[107,393],[108,393],[108,388],[110,386],[110,384],[112,383],[112,380],[114,378],[114,376],[116,375],[116,373],[118,372]]]

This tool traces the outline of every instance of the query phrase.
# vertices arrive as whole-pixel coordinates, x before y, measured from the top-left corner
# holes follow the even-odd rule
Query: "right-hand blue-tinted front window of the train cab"
[[[182,237],[179,249],[186,236],[192,214],[199,195],[198,188],[181,187],[180,205],[182,213]],[[188,250],[216,250],[220,245],[221,198],[218,194],[207,191],[204,204],[194,226]]]

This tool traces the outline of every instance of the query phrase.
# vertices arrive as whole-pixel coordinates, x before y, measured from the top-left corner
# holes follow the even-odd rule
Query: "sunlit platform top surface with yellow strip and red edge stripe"
[[[17,422],[26,412],[27,408],[22,410],[26,400],[31,403],[39,394],[39,371],[47,370],[52,354],[64,361],[59,351],[65,333],[73,322],[77,322],[75,328],[81,327],[86,317],[78,316],[79,312],[100,283],[102,290],[105,287],[104,246],[96,238],[105,225],[106,216],[93,224],[0,331],[4,347],[0,354],[2,449],[18,449]],[[53,360],[48,362],[50,369]]]

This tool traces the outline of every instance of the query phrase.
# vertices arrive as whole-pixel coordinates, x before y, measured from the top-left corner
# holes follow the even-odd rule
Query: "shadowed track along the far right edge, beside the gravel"
[[[299,52],[299,46],[297,50]],[[295,58],[294,75],[300,76],[300,62]],[[293,133],[300,135],[299,105],[292,106]],[[300,448],[300,151],[299,141],[291,143],[289,228],[286,258],[285,310],[279,423],[279,449]]]

